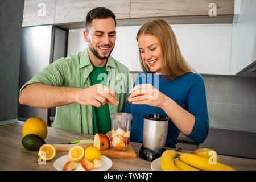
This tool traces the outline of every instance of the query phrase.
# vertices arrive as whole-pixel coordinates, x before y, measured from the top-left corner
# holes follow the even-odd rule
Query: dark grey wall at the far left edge
[[[23,1],[5,0],[0,6],[0,125],[17,122],[20,40]]]

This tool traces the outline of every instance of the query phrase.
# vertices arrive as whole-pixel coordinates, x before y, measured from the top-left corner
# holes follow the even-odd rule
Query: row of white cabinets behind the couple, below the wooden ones
[[[136,35],[141,26],[117,27],[112,56],[130,71],[141,72]],[[197,72],[229,75],[232,24],[171,24],[185,60]],[[69,30],[68,55],[84,50],[83,29]]]

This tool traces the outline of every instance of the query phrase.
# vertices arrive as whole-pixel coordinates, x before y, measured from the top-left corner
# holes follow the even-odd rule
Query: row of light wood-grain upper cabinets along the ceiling
[[[25,0],[23,27],[57,24],[83,28],[94,7],[113,11],[117,26],[140,26],[155,17],[170,24],[232,23],[234,0]]]

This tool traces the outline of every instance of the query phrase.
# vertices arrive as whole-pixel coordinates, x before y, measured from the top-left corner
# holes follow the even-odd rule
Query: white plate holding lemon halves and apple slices
[[[61,156],[60,158],[57,158],[54,162],[55,169],[57,169],[58,171],[62,171],[64,163],[67,162],[68,160],[70,160],[68,158],[68,155],[64,155],[64,156]],[[101,155],[100,160],[104,163],[104,165],[101,168],[92,169],[92,171],[107,171],[112,167],[112,160],[110,160],[108,157]],[[79,167],[80,162],[75,164],[76,164],[76,167]]]

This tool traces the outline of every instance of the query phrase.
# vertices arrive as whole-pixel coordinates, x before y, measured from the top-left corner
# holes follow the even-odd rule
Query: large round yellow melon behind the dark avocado
[[[22,135],[25,137],[28,134],[35,134],[39,137],[46,139],[47,136],[47,126],[46,122],[43,121],[41,118],[32,117],[27,119],[24,122],[22,127]]]

